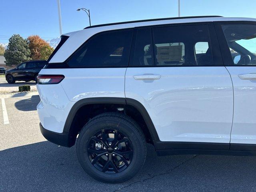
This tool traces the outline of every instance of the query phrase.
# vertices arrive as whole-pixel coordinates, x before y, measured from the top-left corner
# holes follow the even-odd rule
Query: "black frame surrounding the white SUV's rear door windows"
[[[155,55],[155,48],[154,48],[154,34],[153,34],[153,28],[158,28],[158,27],[172,27],[172,26],[194,26],[194,25],[206,25],[208,28],[208,34],[209,34],[209,42],[210,42],[210,48],[212,52],[212,62],[213,65],[196,65],[196,66],[157,66],[156,65],[156,55]],[[134,30],[141,29],[141,28],[151,28],[151,36],[152,36],[152,54],[153,54],[153,60],[154,60],[154,65],[151,66],[131,66],[133,64],[134,60],[134,51],[136,47],[136,36],[132,39],[132,44],[134,45],[132,49],[132,62],[129,61],[128,67],[133,67],[133,68],[143,68],[143,67],[223,67],[223,60],[222,60],[222,55],[220,51],[220,45],[218,43],[217,35],[215,32],[214,24],[213,22],[194,22],[194,23],[174,23],[174,24],[160,24],[160,25],[151,25],[151,26],[140,26],[140,27],[135,27]]]

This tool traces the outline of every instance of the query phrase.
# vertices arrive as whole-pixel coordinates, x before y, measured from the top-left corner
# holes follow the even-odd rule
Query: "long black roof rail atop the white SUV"
[[[88,26],[84,29],[94,28],[94,27],[102,27],[102,26],[109,26],[109,25],[127,24],[127,23],[147,22],[147,21],[161,21],[161,20],[172,20],[172,19],[191,19],[191,18],[208,18],[208,17],[222,17],[222,16],[212,15],[212,16],[190,16],[190,17],[170,17],[170,18],[159,18],[159,19],[147,19],[147,20],[126,21],[126,22],[117,22],[117,23],[107,23],[107,24],[93,25],[93,26]]]

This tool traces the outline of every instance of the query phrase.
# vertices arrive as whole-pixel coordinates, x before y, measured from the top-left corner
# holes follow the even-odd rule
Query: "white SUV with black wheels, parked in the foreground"
[[[123,182],[158,155],[256,154],[256,19],[105,24],[61,36],[38,75],[44,137]]]

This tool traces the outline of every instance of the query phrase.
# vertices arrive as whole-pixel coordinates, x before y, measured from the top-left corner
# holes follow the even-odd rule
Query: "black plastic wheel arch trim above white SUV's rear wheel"
[[[82,108],[91,107],[97,104],[124,106],[125,108],[130,106],[132,108],[135,108],[140,113],[144,123],[146,124],[146,127],[142,128],[144,134],[147,134],[147,133],[150,134],[150,137],[151,137],[150,140],[152,140],[152,143],[153,141],[159,140],[154,124],[148,112],[140,102],[130,98],[100,97],[100,98],[84,98],[79,100],[74,104],[74,106],[72,106],[63,129],[63,132],[68,133],[70,135],[70,139],[72,140],[71,141],[72,145],[75,144],[76,135],[80,131],[79,127],[83,126],[82,124],[79,126],[76,126],[76,123],[77,123],[76,118],[79,116],[80,110]],[[82,116],[86,116],[86,114],[83,114]],[[82,123],[85,124],[86,122],[82,122]],[[144,130],[144,129],[147,129],[147,130]]]

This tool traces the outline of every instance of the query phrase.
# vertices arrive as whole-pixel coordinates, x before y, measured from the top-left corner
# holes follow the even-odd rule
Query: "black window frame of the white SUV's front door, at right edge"
[[[222,24],[254,24],[256,25],[255,21],[214,21],[214,27],[216,29],[216,34],[218,36],[218,42],[220,45],[220,50],[222,54],[222,60],[224,66],[228,67],[255,67],[254,65],[235,65],[232,59],[232,55],[230,53],[230,49],[228,46],[228,42],[226,40],[224,31],[222,30]]]

